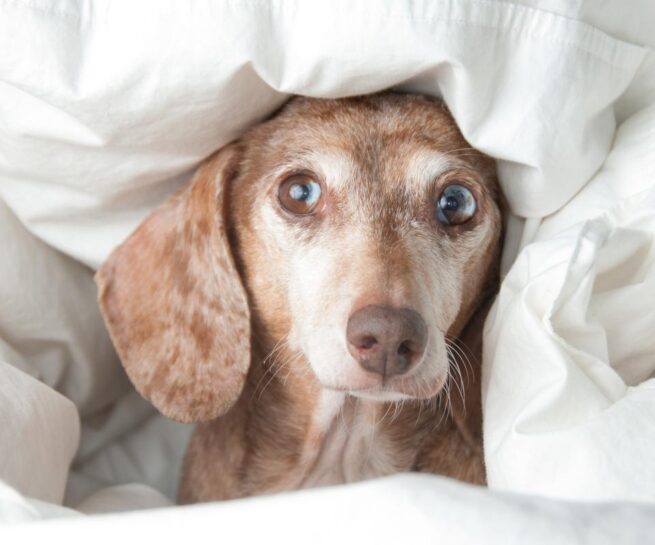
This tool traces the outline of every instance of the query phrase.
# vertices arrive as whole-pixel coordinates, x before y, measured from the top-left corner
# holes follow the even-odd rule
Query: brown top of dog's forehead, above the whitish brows
[[[402,167],[419,153],[468,147],[441,102],[416,96],[297,98],[272,126],[269,146],[277,153],[341,158],[374,174]]]

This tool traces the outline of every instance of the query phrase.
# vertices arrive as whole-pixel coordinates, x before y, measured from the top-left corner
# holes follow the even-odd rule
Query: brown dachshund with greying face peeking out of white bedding
[[[96,275],[136,389],[198,423],[179,500],[484,484],[503,207],[493,160],[421,95],[295,97],[209,158]]]

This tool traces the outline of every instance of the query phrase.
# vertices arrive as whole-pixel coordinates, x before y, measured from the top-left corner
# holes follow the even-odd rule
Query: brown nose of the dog
[[[421,359],[428,332],[409,308],[369,305],[348,318],[348,350],[359,364],[383,377],[401,375]]]

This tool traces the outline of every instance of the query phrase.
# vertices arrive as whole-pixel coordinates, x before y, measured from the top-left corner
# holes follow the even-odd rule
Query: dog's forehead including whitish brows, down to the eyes
[[[251,179],[309,170],[368,208],[392,194],[420,195],[462,161],[484,166],[443,103],[417,95],[298,97],[244,140]]]

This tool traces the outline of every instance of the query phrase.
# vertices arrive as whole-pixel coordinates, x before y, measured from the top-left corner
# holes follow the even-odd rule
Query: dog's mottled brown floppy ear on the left
[[[227,237],[236,146],[155,210],[96,274],[99,302],[139,393],[182,422],[237,400],[250,364],[250,313]]]

